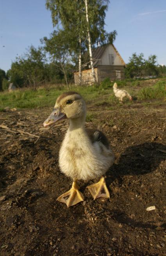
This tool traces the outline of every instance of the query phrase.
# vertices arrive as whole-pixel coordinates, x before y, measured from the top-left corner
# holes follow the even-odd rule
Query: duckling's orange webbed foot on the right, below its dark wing
[[[105,198],[110,197],[104,177],[102,177],[99,182],[92,184],[87,188],[91,192],[91,195],[93,196],[94,200],[98,197],[105,197]]]

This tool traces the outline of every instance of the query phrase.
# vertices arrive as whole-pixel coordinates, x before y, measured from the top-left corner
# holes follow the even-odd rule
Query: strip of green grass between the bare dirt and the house
[[[131,93],[131,95],[136,94],[135,96],[137,96],[138,100],[166,97],[166,81],[164,80],[160,80],[155,85],[143,87],[142,89],[139,89],[139,81],[118,81],[118,86],[123,88],[126,86],[126,83],[128,86],[127,89],[125,89]],[[105,84],[102,84],[102,86],[101,84],[100,86],[73,86],[71,90],[80,93],[87,103],[92,103],[95,106],[100,107],[100,105],[105,104],[107,108],[118,107],[120,103],[113,94],[112,85],[107,86],[108,81],[106,81]],[[62,89],[59,87],[38,88],[37,90],[20,89],[11,93],[0,93],[0,111],[5,107],[16,107],[17,109],[53,107],[57,96],[64,91],[67,91],[66,87],[62,87]],[[131,104],[131,102],[125,102]],[[91,116],[89,116],[89,118],[91,119]]]

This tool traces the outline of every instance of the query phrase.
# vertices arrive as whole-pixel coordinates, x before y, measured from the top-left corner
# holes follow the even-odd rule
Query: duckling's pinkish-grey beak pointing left
[[[50,116],[45,120],[45,122],[43,123],[43,126],[46,127],[48,125],[52,125],[55,122],[62,120],[62,119],[66,119],[66,115],[64,113],[61,113],[60,108],[56,108],[52,111]]]

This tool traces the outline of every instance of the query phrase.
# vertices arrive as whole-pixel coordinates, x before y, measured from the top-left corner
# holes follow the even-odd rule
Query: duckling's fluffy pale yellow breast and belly
[[[104,150],[106,150],[104,152]],[[61,171],[81,180],[102,176],[114,162],[111,149],[104,149],[97,143],[91,143],[84,130],[67,131],[59,151]]]

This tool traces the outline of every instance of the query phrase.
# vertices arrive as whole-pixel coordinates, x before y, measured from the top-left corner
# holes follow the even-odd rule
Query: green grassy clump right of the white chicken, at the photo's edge
[[[156,99],[164,96],[166,96],[165,81],[159,81],[153,87],[145,87],[138,92],[139,100]]]

